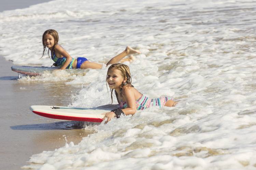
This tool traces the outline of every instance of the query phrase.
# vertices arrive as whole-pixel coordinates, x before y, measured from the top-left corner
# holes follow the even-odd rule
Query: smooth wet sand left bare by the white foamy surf
[[[4,0],[0,12],[47,1]],[[64,82],[22,83],[18,81],[18,73],[11,70],[12,62],[2,56],[0,61],[0,169],[21,169],[33,154],[60,148],[66,142],[77,144],[82,137],[92,133],[82,130],[79,122],[44,118],[29,109],[31,105],[67,106],[71,103],[70,96],[81,87]],[[63,87],[70,94],[60,97]]]

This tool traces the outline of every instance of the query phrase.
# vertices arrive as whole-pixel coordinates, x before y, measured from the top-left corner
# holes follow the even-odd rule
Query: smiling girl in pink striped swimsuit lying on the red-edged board
[[[141,94],[131,84],[130,69],[125,64],[113,64],[109,67],[106,82],[111,91],[111,100],[113,103],[113,91],[119,103],[120,108],[114,109],[111,112],[104,113],[106,122],[112,118],[119,118],[120,115],[133,115],[137,110],[143,110],[151,106],[168,106],[176,105],[176,102],[170,97],[164,96],[159,98],[148,98]]]

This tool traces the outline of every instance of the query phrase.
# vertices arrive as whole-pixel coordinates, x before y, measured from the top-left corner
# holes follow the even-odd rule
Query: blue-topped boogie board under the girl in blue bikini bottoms
[[[59,67],[32,67],[32,66],[12,66],[12,71],[15,71],[20,74],[25,75],[40,75],[44,71],[53,71],[58,69]]]

